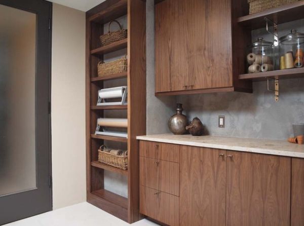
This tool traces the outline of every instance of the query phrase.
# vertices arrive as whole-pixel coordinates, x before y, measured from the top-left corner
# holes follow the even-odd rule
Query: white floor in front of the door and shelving
[[[51,212],[32,216],[4,226],[156,226],[149,220],[143,219],[136,223],[125,221],[101,210],[89,203],[80,203],[57,209]]]

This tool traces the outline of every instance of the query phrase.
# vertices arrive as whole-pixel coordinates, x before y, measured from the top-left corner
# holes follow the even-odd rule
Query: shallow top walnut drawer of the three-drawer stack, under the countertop
[[[140,141],[139,156],[179,163],[179,145]]]

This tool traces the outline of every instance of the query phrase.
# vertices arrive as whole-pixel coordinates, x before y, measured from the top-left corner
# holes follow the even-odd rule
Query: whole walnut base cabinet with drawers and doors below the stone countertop
[[[149,141],[140,156],[146,216],[180,226],[304,225],[303,159]],[[157,169],[161,161],[167,168]]]

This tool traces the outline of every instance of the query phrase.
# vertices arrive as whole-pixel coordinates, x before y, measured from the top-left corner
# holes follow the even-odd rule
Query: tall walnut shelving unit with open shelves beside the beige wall
[[[127,15],[128,37],[107,46],[100,46],[99,36],[104,24]],[[145,1],[106,0],[87,12],[86,30],[86,134],[87,134],[87,201],[129,223],[141,219],[139,214],[139,144],[137,135],[145,135],[146,128],[146,73],[145,73]],[[126,49],[128,71],[98,77],[97,65],[103,55]],[[126,79],[127,105],[96,106],[99,89],[105,81],[115,86],[118,79]],[[121,82],[121,81],[120,81]],[[117,85],[121,86],[121,85]],[[105,110],[127,111],[127,137],[96,135],[97,119],[103,118]],[[108,143],[126,145],[128,170],[122,170],[98,162],[98,147]],[[104,172],[120,174],[128,178],[128,198],[107,191]]]

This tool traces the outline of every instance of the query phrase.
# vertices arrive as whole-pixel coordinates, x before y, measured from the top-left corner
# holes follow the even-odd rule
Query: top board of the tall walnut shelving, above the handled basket
[[[98,12],[90,16],[88,20],[90,22],[105,24],[111,20],[117,19],[121,16],[124,16],[128,13],[128,1],[119,0],[115,1],[114,4],[108,4],[108,7],[102,7],[98,9],[98,6],[95,10],[91,10],[90,14],[94,14],[94,11]]]

